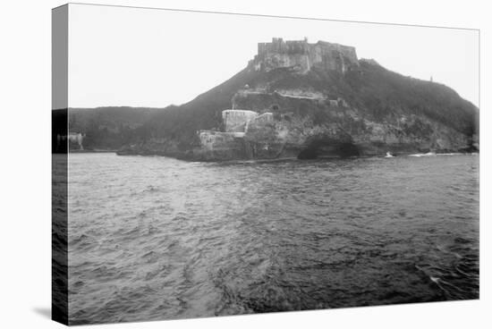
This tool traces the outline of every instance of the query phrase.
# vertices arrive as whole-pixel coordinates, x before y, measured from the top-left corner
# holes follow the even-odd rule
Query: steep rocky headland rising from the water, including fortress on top
[[[156,114],[142,127],[148,135],[119,154],[224,161],[476,151],[478,117],[453,89],[359,60],[351,46],[274,38],[231,80]]]

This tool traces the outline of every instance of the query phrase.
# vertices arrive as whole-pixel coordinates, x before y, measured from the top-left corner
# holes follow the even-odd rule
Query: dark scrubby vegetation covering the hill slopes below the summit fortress
[[[86,135],[84,145],[88,149],[118,149],[129,145],[146,148],[148,140],[152,139],[160,140],[162,145],[162,152],[155,150],[157,154],[169,153],[167,149],[171,148],[173,152],[184,152],[198,145],[197,131],[222,128],[222,111],[232,107],[234,95],[245,86],[250,89],[263,88],[267,95],[273,96],[265,102],[257,97],[254,106],[253,103],[245,105],[252,108],[244,109],[271,110],[277,89],[312,90],[330,99],[344,98],[358,118],[354,124],[397,122],[402,116],[412,116],[417,119],[405,128],[405,133],[430,134],[429,125],[419,122],[437,122],[467,136],[470,148],[474,148],[473,143],[476,145],[478,140],[479,109],[462,99],[453,89],[439,83],[405,77],[365,60],[344,73],[317,68],[306,74],[297,74],[289,68],[263,72],[247,67],[183,105],[162,109],[70,109],[70,129]],[[307,115],[312,122],[321,126],[333,120],[332,110],[326,106],[285,99],[278,99],[278,103],[282,105],[278,106],[277,112],[301,117]],[[146,152],[153,151],[149,149]]]

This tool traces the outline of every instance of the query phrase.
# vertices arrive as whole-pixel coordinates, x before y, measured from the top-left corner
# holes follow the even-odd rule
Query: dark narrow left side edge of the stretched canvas
[[[52,310],[68,315],[68,4],[52,10]]]

